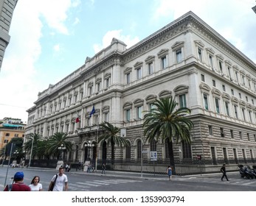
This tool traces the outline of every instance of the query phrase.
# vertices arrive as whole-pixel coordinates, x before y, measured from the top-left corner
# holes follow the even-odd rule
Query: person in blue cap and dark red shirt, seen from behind
[[[23,171],[17,171],[13,177],[13,184],[6,185],[4,191],[30,191],[30,187],[24,182],[24,173]]]

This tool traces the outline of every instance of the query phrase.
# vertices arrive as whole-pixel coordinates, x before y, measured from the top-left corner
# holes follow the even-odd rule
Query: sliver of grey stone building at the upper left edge
[[[18,0],[0,0],[0,71],[4,51],[10,42],[10,23]]]

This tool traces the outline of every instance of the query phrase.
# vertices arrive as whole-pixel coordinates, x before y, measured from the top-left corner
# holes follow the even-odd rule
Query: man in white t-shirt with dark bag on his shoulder
[[[64,174],[63,167],[60,167],[59,173],[52,177],[48,191],[50,191],[52,184],[54,184],[52,191],[68,191],[68,177],[66,177],[66,174]]]

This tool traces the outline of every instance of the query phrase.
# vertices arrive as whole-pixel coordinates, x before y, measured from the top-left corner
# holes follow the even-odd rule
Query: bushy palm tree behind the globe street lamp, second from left
[[[46,153],[52,154],[52,156],[59,158],[60,149],[59,147],[65,147],[66,149],[63,152],[69,152],[72,150],[72,143],[68,141],[68,135],[65,132],[56,132],[49,138],[47,141]]]

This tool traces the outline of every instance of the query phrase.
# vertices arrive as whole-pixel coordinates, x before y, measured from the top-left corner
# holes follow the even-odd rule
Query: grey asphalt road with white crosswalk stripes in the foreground
[[[47,191],[52,177],[57,173],[55,170],[44,170],[40,168],[9,168],[7,184],[16,171],[24,171],[24,182],[30,184],[32,177],[38,175],[44,191]],[[0,166],[0,191],[4,189],[7,166]],[[82,171],[71,171],[66,173],[69,180],[69,191],[256,191],[256,179],[241,179],[239,173],[228,174],[229,182],[221,182],[221,174],[207,176],[176,177],[168,181],[167,177],[138,175],[101,175],[87,174]]]

